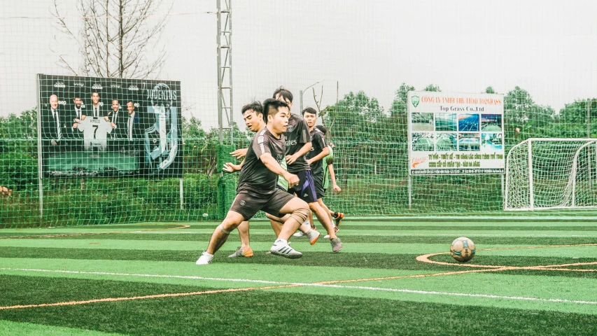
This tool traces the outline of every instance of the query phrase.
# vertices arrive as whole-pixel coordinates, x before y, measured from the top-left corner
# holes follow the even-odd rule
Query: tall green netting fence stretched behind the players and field
[[[221,118],[220,144],[216,70],[223,69],[217,69],[214,52],[215,0],[153,1],[157,6],[146,12],[125,8],[123,13],[116,10],[120,1],[59,1],[58,8],[51,2],[0,3],[0,228],[222,218],[238,179],[220,174],[221,164],[232,160],[223,148],[247,146],[252,137],[240,108],[272,97],[281,85],[294,94],[293,113],[314,107],[317,123],[328,127],[342,193],[330,186],[324,200],[348,217],[503,214],[503,176],[409,179],[410,90],[504,94],[505,153],[530,138],[597,137],[597,23],[575,16],[594,13],[595,3],[558,8],[546,3],[537,10],[524,3],[458,1],[433,8],[421,1],[235,1],[234,25],[227,33],[231,44],[225,45],[234,62],[222,64],[232,71],[232,115]],[[138,55],[137,63],[135,57],[128,59],[132,63],[119,58],[119,42],[129,41],[118,38],[119,18],[145,18],[134,26],[142,28],[135,41],[139,48],[125,54]],[[571,23],[553,25],[554,20]],[[98,29],[104,23],[106,29]],[[108,42],[90,48],[89,36]],[[545,41],[556,48],[545,52]],[[132,71],[134,66],[145,71]],[[48,104],[43,100],[58,94],[59,102],[70,105],[74,97],[49,87],[38,102],[38,73],[180,82],[182,179],[40,181],[37,120]],[[108,95],[101,97],[106,106]],[[455,121],[443,120],[437,130],[449,130]],[[442,148],[456,146],[449,134],[439,139]],[[597,168],[591,146],[570,163],[583,144],[533,149],[541,162],[533,164],[538,165],[535,209],[594,203]],[[509,197],[517,207],[531,208],[526,196],[531,187],[524,183],[528,153],[513,155],[518,163],[508,169],[520,183],[509,189]]]

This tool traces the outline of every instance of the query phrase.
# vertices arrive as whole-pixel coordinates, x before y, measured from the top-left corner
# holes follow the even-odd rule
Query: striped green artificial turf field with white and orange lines
[[[253,258],[233,232],[195,265],[217,224],[0,230],[0,334],[597,334],[592,221],[345,221],[341,253],[293,238],[297,260],[261,221]]]

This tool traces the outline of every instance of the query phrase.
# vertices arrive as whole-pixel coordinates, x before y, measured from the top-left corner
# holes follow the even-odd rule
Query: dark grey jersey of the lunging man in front
[[[237,190],[248,189],[258,193],[269,193],[276,189],[278,175],[267,169],[260,160],[261,155],[269,153],[278,163],[284,160],[284,136],[276,139],[272,133],[264,128],[255,134],[248,146],[244,165],[241,169],[239,187]]]

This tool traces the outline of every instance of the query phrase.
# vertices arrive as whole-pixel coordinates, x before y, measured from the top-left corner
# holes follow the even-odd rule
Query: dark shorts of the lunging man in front
[[[293,198],[295,198],[293,195],[279,189],[269,193],[239,190],[230,210],[243,215],[245,221],[253,218],[260,210],[279,217],[280,210]]]

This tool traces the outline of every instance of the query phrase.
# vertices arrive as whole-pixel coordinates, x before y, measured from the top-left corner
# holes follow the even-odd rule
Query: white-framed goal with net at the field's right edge
[[[532,138],[506,158],[504,210],[597,207],[597,139]]]

